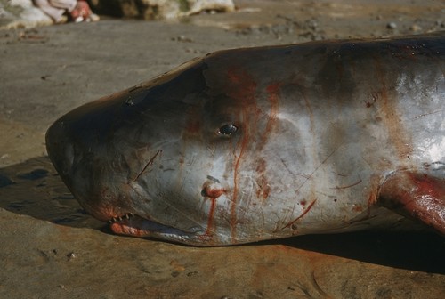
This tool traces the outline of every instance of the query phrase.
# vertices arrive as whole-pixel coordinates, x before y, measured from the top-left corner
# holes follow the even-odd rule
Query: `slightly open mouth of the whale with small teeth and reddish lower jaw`
[[[109,225],[114,233],[134,237],[186,239],[198,233],[198,231],[175,229],[172,226],[154,222],[146,217],[133,213],[112,217],[109,220]]]

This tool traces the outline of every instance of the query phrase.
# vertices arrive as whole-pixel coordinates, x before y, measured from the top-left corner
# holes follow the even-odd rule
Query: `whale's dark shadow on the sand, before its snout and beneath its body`
[[[71,227],[110,233],[108,226],[85,214],[49,158],[32,158],[0,169],[0,207]],[[255,243],[285,245],[367,263],[445,274],[445,238],[428,233],[364,231],[311,235]]]

